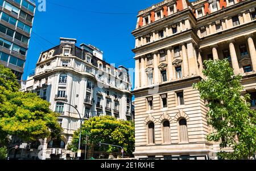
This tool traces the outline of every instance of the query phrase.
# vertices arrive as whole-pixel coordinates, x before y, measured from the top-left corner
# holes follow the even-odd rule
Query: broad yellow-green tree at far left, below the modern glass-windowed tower
[[[35,93],[18,92],[19,84],[10,69],[0,65],[0,147],[10,136],[24,141],[58,138],[63,130],[49,103]]]

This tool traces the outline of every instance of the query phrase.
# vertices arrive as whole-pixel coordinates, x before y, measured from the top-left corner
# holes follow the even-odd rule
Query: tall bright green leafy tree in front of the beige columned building
[[[222,159],[250,159],[256,151],[256,117],[250,109],[250,96],[241,96],[241,75],[234,75],[228,60],[204,62],[206,79],[194,84],[201,99],[207,101],[208,123],[214,131],[209,141],[218,142],[220,147],[233,148],[233,152],[221,151]]]

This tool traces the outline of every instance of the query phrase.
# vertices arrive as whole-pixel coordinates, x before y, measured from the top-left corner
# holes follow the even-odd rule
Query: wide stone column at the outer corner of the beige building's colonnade
[[[198,66],[197,59],[194,53],[194,46],[192,42],[187,42],[188,48],[188,63],[189,63],[189,75],[197,75],[198,74]]]

